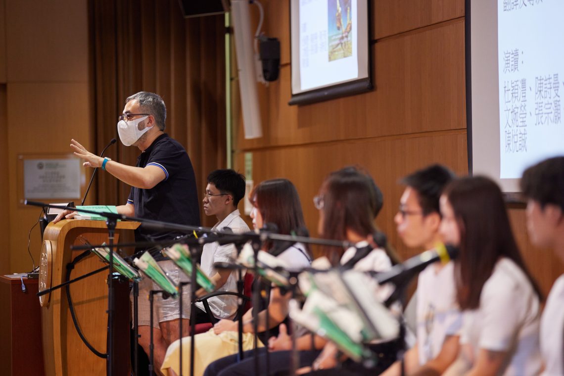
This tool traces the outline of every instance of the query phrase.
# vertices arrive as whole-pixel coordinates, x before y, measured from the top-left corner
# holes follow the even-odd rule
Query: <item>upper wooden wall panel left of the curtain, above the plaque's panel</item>
[[[85,81],[86,1],[6,1],[8,81]]]

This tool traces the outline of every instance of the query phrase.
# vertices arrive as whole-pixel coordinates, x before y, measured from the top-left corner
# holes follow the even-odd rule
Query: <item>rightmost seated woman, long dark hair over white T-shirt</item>
[[[500,188],[490,179],[457,179],[440,198],[444,242],[455,261],[463,312],[459,358],[448,375],[536,375],[540,371],[541,294],[513,237]]]

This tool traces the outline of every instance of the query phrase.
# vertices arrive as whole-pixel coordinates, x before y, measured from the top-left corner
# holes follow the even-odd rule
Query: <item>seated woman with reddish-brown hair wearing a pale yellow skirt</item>
[[[253,204],[251,218],[255,229],[262,228],[266,223],[277,226],[278,232],[289,235],[291,231],[304,226],[302,207],[299,201],[296,187],[286,179],[266,180],[257,185],[250,193],[250,201]],[[265,245],[267,250],[267,245]],[[310,265],[311,258],[309,250],[302,244],[294,244],[281,252],[277,257],[287,265],[289,269],[300,270]],[[267,310],[258,313],[258,331],[273,329],[288,315],[288,301],[290,294],[281,294],[279,289],[272,289],[270,303]],[[243,316],[244,333],[253,333],[253,309],[249,309]],[[268,327],[266,325],[268,323]],[[196,335],[196,353],[194,369],[195,374],[202,374],[206,366],[221,357],[237,353],[236,338],[238,322],[232,320],[221,320],[215,324],[213,329],[207,333]],[[245,350],[253,347],[254,336],[246,335]],[[169,375],[179,374],[179,341],[170,345],[166,351],[165,361],[161,371]],[[182,342],[183,352],[183,374],[190,373],[190,338],[185,337]],[[259,344],[262,346],[262,343]]]

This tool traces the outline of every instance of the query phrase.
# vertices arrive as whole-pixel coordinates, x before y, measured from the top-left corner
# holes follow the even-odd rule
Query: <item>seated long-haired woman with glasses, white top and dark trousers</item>
[[[382,193],[370,175],[356,167],[346,167],[332,172],[321,185],[319,195],[314,198],[314,204],[319,210],[318,232],[321,237],[329,240],[348,240],[360,242],[370,240],[376,231],[374,218],[382,208]],[[341,262],[354,264],[360,271],[384,271],[392,265],[391,258],[396,260],[393,251],[381,248],[373,249],[361,259],[355,258],[356,249],[343,250],[337,247],[326,247],[322,253],[334,265]],[[356,262],[355,262],[356,261]],[[386,291],[384,295],[389,295]],[[300,333],[301,330],[297,330]],[[302,332],[305,333],[305,332]],[[314,346],[312,347],[312,342]],[[297,338],[298,366],[307,366],[316,359],[326,341],[310,334]],[[269,340],[268,362],[271,374],[285,374],[291,371],[292,341],[285,328],[279,337]],[[249,354],[252,356],[252,353]],[[265,369],[266,356],[261,355],[259,364]],[[206,369],[206,376],[214,375],[248,375],[254,373],[254,359],[245,358],[236,363],[235,357],[225,357],[210,364]]]

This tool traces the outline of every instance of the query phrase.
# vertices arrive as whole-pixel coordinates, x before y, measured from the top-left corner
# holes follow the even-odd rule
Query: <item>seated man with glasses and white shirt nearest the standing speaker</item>
[[[237,204],[245,196],[245,178],[233,170],[215,170],[208,175],[208,186],[204,194],[204,212],[206,215],[215,215],[218,223],[215,230],[230,228],[234,233],[249,231],[249,226],[239,215]],[[216,262],[232,262],[236,256],[235,246],[232,244],[219,246],[217,243],[204,245],[202,250],[201,268],[207,273],[215,284],[216,291],[237,291],[237,272],[227,269],[215,269]],[[196,295],[202,296],[206,292],[200,289]],[[234,295],[221,295],[208,299],[211,313],[216,319],[233,319],[237,311],[237,297]],[[197,315],[204,311],[203,303],[196,303],[200,308]]]

